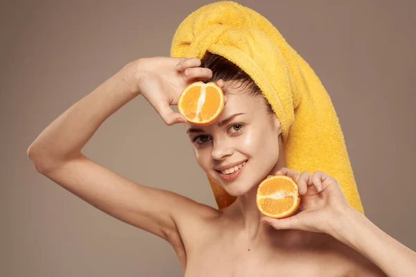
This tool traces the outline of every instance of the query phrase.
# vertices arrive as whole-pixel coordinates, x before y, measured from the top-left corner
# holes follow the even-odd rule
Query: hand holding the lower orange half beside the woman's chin
[[[291,177],[297,183],[301,197],[299,213],[283,219],[261,218],[261,222],[270,224],[275,229],[297,229],[331,235],[338,227],[335,222],[352,208],[338,181],[324,172],[299,173],[281,168],[275,175]]]

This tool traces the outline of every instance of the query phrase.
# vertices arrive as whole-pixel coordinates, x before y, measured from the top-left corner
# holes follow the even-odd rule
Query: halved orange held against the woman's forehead
[[[194,82],[182,91],[177,109],[190,123],[208,125],[224,109],[224,93],[214,82]]]

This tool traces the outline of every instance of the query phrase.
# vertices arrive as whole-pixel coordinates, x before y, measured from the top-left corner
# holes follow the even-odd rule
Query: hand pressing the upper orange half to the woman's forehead
[[[132,62],[137,91],[148,100],[166,125],[187,122],[170,105],[177,105],[180,93],[189,84],[211,78],[211,69],[199,67],[200,64],[198,58],[184,57],[145,57]]]

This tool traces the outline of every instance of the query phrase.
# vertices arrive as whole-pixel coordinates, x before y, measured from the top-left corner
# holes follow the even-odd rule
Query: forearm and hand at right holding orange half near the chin
[[[327,233],[361,253],[390,277],[416,276],[416,253],[384,233],[347,202],[338,181],[324,172],[281,168],[299,187],[300,213],[284,219],[263,217],[275,229]]]

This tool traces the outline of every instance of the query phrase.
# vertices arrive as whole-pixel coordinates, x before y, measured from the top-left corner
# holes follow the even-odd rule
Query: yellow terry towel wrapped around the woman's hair
[[[202,6],[177,28],[172,57],[214,53],[248,73],[281,123],[286,166],[298,172],[321,170],[333,176],[349,204],[363,213],[336,111],[318,76],[270,21],[232,1]],[[232,204],[212,179],[218,208]]]

